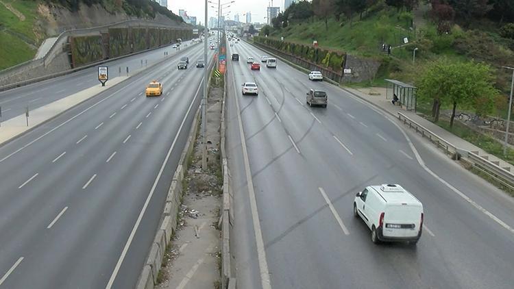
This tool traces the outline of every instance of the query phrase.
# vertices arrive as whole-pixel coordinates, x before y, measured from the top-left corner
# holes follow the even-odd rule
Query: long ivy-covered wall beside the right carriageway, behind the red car
[[[254,36],[254,42],[273,47],[274,49],[313,62],[334,72],[341,72],[344,67],[345,55],[334,51],[262,36]]]

